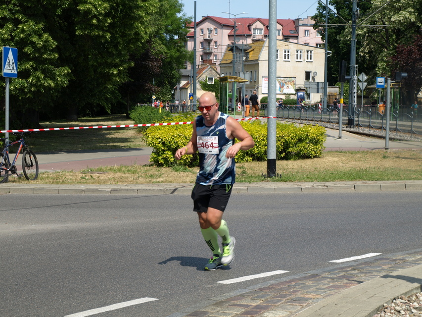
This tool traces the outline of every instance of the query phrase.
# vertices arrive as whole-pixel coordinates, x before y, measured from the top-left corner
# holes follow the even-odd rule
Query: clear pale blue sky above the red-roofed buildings
[[[184,11],[188,16],[194,14],[194,0],[180,0],[184,4]],[[324,1],[325,2],[325,1]],[[268,0],[196,0],[196,21],[202,16],[211,15],[219,17],[233,17],[227,13],[238,14],[247,12],[247,14],[239,14],[238,17],[254,17],[268,19]],[[317,12],[318,0],[278,0],[277,1],[277,18],[278,19],[295,19],[306,18]],[[230,7],[230,9],[229,9]]]

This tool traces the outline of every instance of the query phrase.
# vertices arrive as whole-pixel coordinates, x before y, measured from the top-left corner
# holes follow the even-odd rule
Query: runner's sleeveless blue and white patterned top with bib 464
[[[228,117],[228,114],[220,112],[217,122],[211,127],[205,125],[202,115],[196,117],[200,167],[196,182],[201,185],[234,184],[234,158],[226,158],[227,150],[234,144],[234,139],[229,139],[226,134],[226,120]],[[213,143],[217,142],[217,140],[218,150],[217,143]]]

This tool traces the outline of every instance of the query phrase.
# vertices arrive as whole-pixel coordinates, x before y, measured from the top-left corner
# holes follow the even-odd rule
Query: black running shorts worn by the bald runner
[[[231,184],[201,185],[196,183],[192,189],[193,211],[206,212],[208,208],[225,211],[232,194]]]

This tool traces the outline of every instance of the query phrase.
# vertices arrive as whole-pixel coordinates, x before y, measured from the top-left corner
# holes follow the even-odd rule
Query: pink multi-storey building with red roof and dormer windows
[[[214,65],[220,71],[220,61],[227,47],[234,43],[234,37],[237,44],[251,44],[254,41],[265,40],[269,34],[268,25],[269,20],[261,18],[203,17],[196,23],[196,64]],[[278,19],[277,39],[322,47],[322,38],[312,25],[310,17],[295,20]],[[187,49],[193,51],[193,23],[189,27],[192,31],[187,35]],[[190,65],[187,65],[187,68],[190,68]]]

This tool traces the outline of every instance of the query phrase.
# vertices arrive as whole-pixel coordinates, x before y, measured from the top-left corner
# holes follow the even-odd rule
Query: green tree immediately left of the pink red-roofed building
[[[193,53],[185,48],[188,25],[191,20],[178,0],[160,0],[160,10],[151,17],[153,34],[144,49],[133,56],[134,65],[129,69],[130,80],[122,87],[128,106],[130,103],[150,102],[155,95],[159,100],[170,100],[173,87],[180,80],[180,68],[186,60],[193,60]]]

